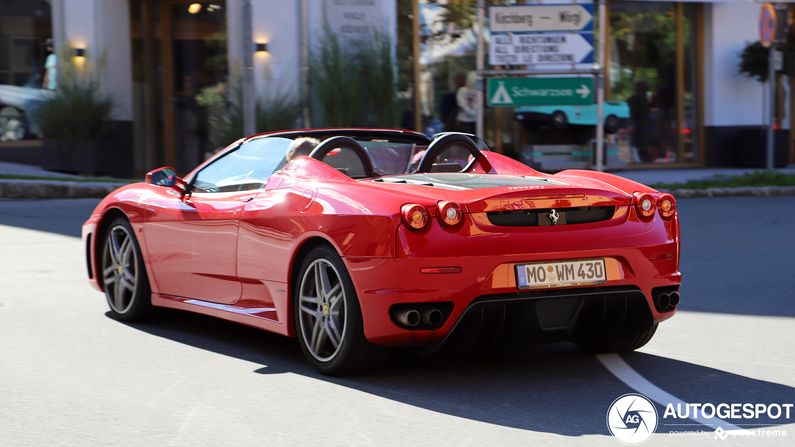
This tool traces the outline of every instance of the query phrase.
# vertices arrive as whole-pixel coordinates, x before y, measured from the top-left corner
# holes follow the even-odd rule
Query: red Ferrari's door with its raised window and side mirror
[[[237,239],[243,205],[264,191],[285,163],[291,141],[260,138],[201,169],[191,193],[165,191],[146,206],[159,208],[144,224],[149,265],[161,294],[234,304],[242,286]]]

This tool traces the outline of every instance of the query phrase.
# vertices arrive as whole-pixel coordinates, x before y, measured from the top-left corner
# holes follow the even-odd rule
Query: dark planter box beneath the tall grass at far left
[[[41,168],[48,171],[106,175],[110,170],[110,141],[44,141]]]

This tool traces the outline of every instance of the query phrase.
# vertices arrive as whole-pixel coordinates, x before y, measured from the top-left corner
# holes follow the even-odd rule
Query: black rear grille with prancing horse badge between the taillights
[[[557,222],[552,217],[557,217]],[[543,210],[487,211],[491,225],[499,226],[547,226],[575,225],[606,221],[615,214],[615,206],[575,206],[571,208],[547,208]]]

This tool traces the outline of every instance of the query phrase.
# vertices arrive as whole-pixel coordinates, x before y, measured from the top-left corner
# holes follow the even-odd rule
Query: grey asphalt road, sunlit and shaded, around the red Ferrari
[[[172,310],[115,321],[84,281],[77,238],[97,202],[0,199],[2,447],[620,445],[605,415],[626,393],[795,403],[793,197],[679,201],[681,310],[621,356],[634,382],[569,344],[401,353],[377,374],[328,378],[294,339],[258,329]],[[644,445],[795,444],[795,408],[727,419],[786,437],[721,440],[714,426],[660,421]]]

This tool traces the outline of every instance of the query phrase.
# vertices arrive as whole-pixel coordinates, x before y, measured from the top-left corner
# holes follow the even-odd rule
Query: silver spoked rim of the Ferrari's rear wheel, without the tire
[[[329,361],[339,352],[345,337],[347,302],[334,265],[316,259],[301,279],[299,312],[301,336],[317,360]]]

